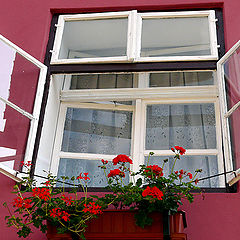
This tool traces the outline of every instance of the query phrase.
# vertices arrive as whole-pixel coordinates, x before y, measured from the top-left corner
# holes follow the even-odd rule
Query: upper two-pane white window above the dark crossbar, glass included
[[[52,64],[217,60],[215,12],[61,15]]]

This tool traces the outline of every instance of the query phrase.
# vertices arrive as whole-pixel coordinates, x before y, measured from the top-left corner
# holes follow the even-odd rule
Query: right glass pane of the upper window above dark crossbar
[[[210,54],[207,17],[143,19],[141,57]]]

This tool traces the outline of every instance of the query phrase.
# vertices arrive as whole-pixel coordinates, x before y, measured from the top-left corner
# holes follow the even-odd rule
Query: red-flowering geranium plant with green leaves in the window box
[[[88,194],[88,173],[80,173],[79,176],[70,179],[66,176],[57,179],[49,173],[47,181],[43,183],[44,187],[36,187],[35,181],[27,176],[21,183],[22,187],[15,186],[14,193],[17,196],[12,202],[14,213],[7,203],[4,203],[9,211],[9,216],[6,216],[8,226],[16,227],[19,237],[27,237],[32,232],[32,225],[45,232],[47,220],[56,226],[58,233],[68,232],[72,233],[73,237],[85,239],[84,232],[88,222],[102,214],[110,205],[119,209],[137,210],[136,224],[141,227],[151,225],[151,212],[176,213],[182,199],[193,201],[192,190],[198,188],[197,174],[201,170],[196,170],[194,175],[183,169],[175,170],[176,161],[180,161],[186,150],[175,146],[172,151],[175,156],[168,175],[164,173],[167,159],[159,165],[149,164],[153,153],[149,154],[147,163],[141,165],[137,172],[131,171],[130,165],[133,162],[126,155],[118,155],[112,162],[102,160],[99,167],[107,178],[107,188],[111,190],[103,197]],[[30,171],[30,163],[24,166]],[[124,181],[127,176],[131,178],[129,183]],[[57,181],[63,183],[61,188],[55,187]],[[65,191],[65,185],[69,184],[66,181],[70,181],[73,186],[70,192]],[[79,189],[83,194],[79,193]]]

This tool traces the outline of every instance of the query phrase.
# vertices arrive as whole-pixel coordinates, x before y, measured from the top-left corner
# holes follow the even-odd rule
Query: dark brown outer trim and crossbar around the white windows
[[[138,8],[137,8],[138,9]],[[213,9],[216,13],[216,18],[218,19],[217,25],[217,39],[218,44],[220,45],[218,49],[219,59],[225,53],[225,43],[224,43],[224,29],[223,29],[223,12],[222,8],[183,8],[183,9],[154,9],[153,11],[198,11],[198,10],[209,10]],[[119,9],[118,9],[119,10]],[[121,9],[121,10],[132,10],[132,9]],[[140,10],[140,9],[139,9]],[[152,11],[148,9],[147,11]],[[66,13],[67,12],[67,13]],[[39,125],[37,129],[37,136],[34,145],[33,159],[32,159],[32,168],[31,168],[31,177],[34,176],[36,159],[39,149],[40,137],[42,132],[42,126],[44,121],[44,114],[47,105],[48,92],[50,86],[50,76],[52,74],[63,74],[63,73],[100,73],[100,72],[144,72],[144,71],[174,71],[174,70],[216,70],[217,61],[182,61],[182,62],[146,62],[146,63],[112,63],[112,64],[59,64],[59,65],[50,65],[51,61],[51,50],[53,49],[56,27],[55,25],[58,22],[58,17],[60,14],[71,14],[71,12],[66,11],[65,13],[54,14],[51,21],[51,27],[49,32],[49,41],[46,48],[46,55],[44,64],[48,66],[47,80],[44,87],[43,101],[40,112]],[[90,10],[88,12],[91,12]],[[144,12],[141,11],[140,12]],[[72,12],[74,14],[76,12]],[[225,167],[225,161],[224,161]],[[67,188],[70,190],[71,188]],[[111,192],[101,187],[89,187],[90,192]],[[202,188],[202,191],[207,193],[226,193],[226,192],[236,192],[236,184],[233,187],[228,187],[226,183],[226,188]],[[199,191],[198,191],[199,192]]]

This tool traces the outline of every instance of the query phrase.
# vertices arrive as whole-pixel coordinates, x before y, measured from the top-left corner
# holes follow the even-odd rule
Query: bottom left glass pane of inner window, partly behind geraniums
[[[104,171],[99,168],[102,163],[100,160],[85,160],[85,159],[60,159],[58,168],[58,178],[61,176],[79,176],[80,173],[88,172],[90,180],[87,181],[88,187],[105,187],[107,185],[107,180],[104,175]],[[108,174],[113,166],[107,164],[106,173]],[[71,182],[71,181],[68,181]],[[126,175],[124,183],[129,182],[129,176]],[[71,182],[72,183],[72,182]],[[78,183],[78,181],[76,181]],[[58,183],[57,186],[62,186]],[[67,185],[66,185],[67,186]]]

